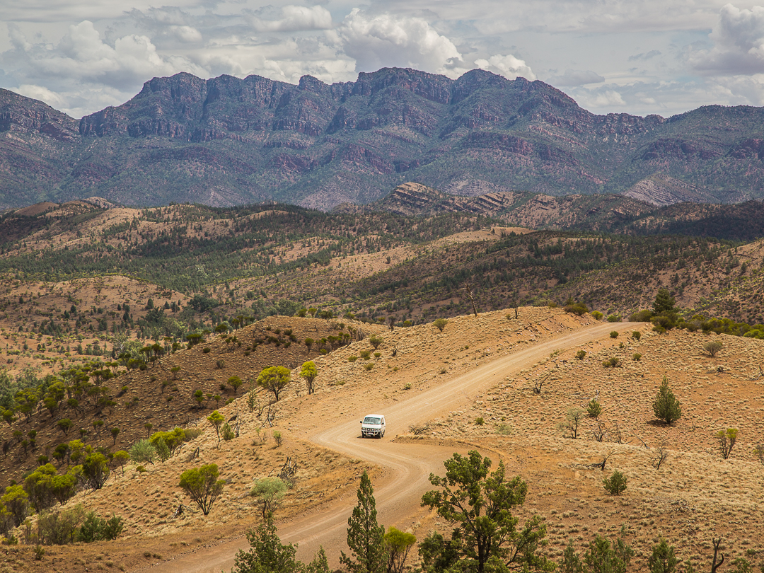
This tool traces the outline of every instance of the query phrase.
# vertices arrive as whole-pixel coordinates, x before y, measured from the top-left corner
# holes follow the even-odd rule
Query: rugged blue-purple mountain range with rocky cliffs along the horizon
[[[365,204],[400,183],[459,196],[618,194],[654,206],[764,197],[764,108],[594,115],[548,84],[472,70],[154,78],[79,121],[0,90],[0,207],[274,199]]]

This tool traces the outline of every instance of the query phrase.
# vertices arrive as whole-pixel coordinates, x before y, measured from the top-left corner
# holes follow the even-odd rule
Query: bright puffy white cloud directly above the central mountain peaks
[[[371,15],[353,8],[338,27],[337,36],[358,71],[400,66],[448,73],[461,60],[453,42],[424,18]]]

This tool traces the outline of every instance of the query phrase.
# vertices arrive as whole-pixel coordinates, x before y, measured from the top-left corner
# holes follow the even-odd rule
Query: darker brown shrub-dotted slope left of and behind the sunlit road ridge
[[[90,374],[89,384],[99,387],[108,403],[97,403],[95,398],[88,397],[85,389],[80,392],[80,404],[75,408],[60,401],[53,411],[39,408],[30,416],[19,414],[14,423],[2,426],[0,442],[8,442],[10,447],[4,452],[6,463],[0,469],[0,487],[5,487],[11,480],[20,481],[25,471],[37,467],[38,455],[52,458],[53,450],[62,441],[85,439],[94,448],[103,447],[110,452],[125,449],[145,437],[146,423],[151,423],[152,432],[187,426],[190,420],[209,415],[215,408],[246,392],[264,368],[294,368],[338,348],[341,343],[358,338],[359,333],[363,336],[380,329],[382,327],[354,322],[341,324],[321,319],[270,317],[230,335],[210,336],[193,348],[168,348],[163,356],[149,361],[147,367],[141,369],[128,367],[125,360],[107,360],[111,364],[108,369],[116,376],[104,377],[104,380],[99,380],[102,374],[92,374],[103,368],[102,357],[88,357],[85,364],[78,364],[75,359],[62,359],[55,372],[67,385],[74,384],[77,370],[83,371],[83,366],[93,364],[93,361],[100,362],[99,366],[86,372]],[[343,335],[347,336],[347,341]],[[306,338],[315,340],[316,345],[306,346]],[[332,342],[327,344],[327,339]],[[228,384],[232,376],[241,378],[243,390]],[[201,402],[194,399],[197,390],[202,390]],[[65,418],[73,422],[71,434],[70,430],[57,426],[57,422]],[[102,423],[95,425],[93,422],[96,421]],[[84,438],[80,428],[85,430]],[[112,439],[112,428],[119,429],[116,439]],[[21,432],[21,436],[14,437],[15,432]],[[29,432],[37,434],[34,445],[23,443],[29,442],[22,440]]]

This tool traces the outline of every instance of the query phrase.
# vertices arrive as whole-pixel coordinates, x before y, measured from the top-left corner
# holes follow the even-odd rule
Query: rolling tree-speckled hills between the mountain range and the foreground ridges
[[[182,337],[225,319],[292,315],[310,306],[336,316],[416,324],[471,312],[468,285],[481,310],[547,300],[562,304],[572,296],[621,316],[649,307],[656,290],[666,286],[684,308],[762,322],[756,302],[761,241],[639,236],[663,222],[694,229],[711,228],[711,220],[742,227],[744,234],[745,225],[730,222],[735,213],[753,216],[753,206],[746,212],[744,206],[682,204],[637,219],[624,214],[627,223],[620,225],[633,228],[633,235],[602,235],[509,223],[557,225],[565,219],[558,205],[529,209],[527,217],[513,215],[522,208],[439,211],[430,201],[436,192],[412,187],[391,197],[422,199],[416,209],[421,216],[272,204],[105,209],[85,202],[47,206],[37,215],[5,215],[0,272],[11,281],[0,294],[5,328],[13,325],[18,332],[19,321],[34,317],[25,331],[66,333],[71,338],[61,343],[71,351],[78,342],[93,344],[126,329],[143,337],[155,329]],[[490,198],[482,199],[485,204]],[[580,205],[606,198],[549,199]],[[729,211],[714,219],[717,208]],[[662,215],[664,209],[671,213]],[[614,212],[592,209],[589,218],[578,220],[601,231],[598,221],[615,226],[618,217],[608,215]],[[150,298],[156,308],[151,313]],[[123,304],[130,309],[128,319]],[[88,312],[72,316],[72,305]],[[75,341],[77,335],[91,339]]]

